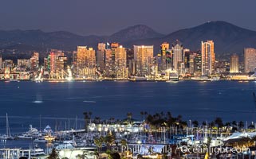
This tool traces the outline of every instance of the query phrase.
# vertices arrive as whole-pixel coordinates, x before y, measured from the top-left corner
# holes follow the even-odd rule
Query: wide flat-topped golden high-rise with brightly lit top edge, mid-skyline
[[[153,45],[134,45],[134,60],[136,61],[136,76],[149,76],[153,64]]]

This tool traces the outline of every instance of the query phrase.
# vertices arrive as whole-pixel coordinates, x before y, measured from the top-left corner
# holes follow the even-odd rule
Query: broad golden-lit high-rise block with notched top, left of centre
[[[95,78],[96,55],[93,48],[77,46],[77,76]]]

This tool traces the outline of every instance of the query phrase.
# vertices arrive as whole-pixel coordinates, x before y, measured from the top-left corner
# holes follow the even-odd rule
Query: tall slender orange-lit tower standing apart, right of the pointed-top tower
[[[201,42],[202,46],[202,76],[215,73],[215,43],[213,41]]]

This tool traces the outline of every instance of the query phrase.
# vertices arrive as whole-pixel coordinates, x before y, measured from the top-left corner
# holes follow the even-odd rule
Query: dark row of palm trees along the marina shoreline
[[[121,123],[124,121],[121,121],[120,119],[115,119],[115,118],[109,118],[109,119],[104,119],[102,120],[100,117],[95,117],[92,118],[92,112],[84,112],[85,115],[85,126],[89,123],[89,121],[92,121],[96,124],[98,123],[105,123],[105,124],[112,124],[112,123]],[[158,129],[160,127],[178,127],[179,129],[186,128],[187,126],[194,127],[194,128],[199,128],[202,126],[207,126],[209,129],[216,128],[218,130],[218,133],[220,131],[225,131],[225,129],[232,128],[231,132],[237,131],[237,130],[244,130],[245,128],[245,123],[240,121],[232,121],[232,122],[223,122],[222,118],[215,118],[213,121],[206,122],[203,121],[199,123],[199,121],[194,120],[190,121],[190,123],[187,123],[188,121],[183,120],[182,115],[178,116],[173,116],[170,111],[163,112],[161,111],[160,113],[155,113],[155,114],[148,114],[147,111],[140,111],[141,115],[141,120],[144,120],[147,122],[152,128]],[[128,112],[127,113],[127,119],[125,122],[132,123],[132,113]],[[253,124],[249,124],[246,129],[254,129]]]

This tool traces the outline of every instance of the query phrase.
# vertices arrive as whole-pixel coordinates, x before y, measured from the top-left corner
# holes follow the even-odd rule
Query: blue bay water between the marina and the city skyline
[[[234,81],[1,82],[0,134],[6,132],[6,113],[11,133],[24,132],[30,124],[38,129],[82,128],[85,111],[104,119],[126,118],[128,112],[140,119],[140,111],[170,111],[187,121],[221,117],[226,122],[252,122],[256,121],[254,91],[255,82]]]

